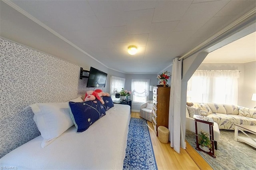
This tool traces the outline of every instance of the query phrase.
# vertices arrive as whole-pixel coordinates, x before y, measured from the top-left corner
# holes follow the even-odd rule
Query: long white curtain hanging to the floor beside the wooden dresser
[[[180,61],[178,59],[174,58],[172,64],[168,129],[170,131],[170,145],[176,152],[180,153],[180,147],[186,148],[183,135],[183,131],[186,128],[186,119],[185,122],[182,122],[180,113],[182,59]]]

